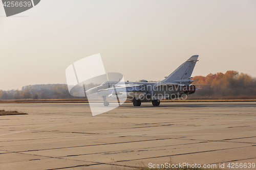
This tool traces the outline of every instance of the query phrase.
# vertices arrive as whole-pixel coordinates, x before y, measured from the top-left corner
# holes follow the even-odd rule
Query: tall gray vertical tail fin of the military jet
[[[165,77],[162,83],[174,83],[175,80],[188,79],[194,70],[196,62],[198,61],[198,55],[190,57],[187,61],[181,64],[172,74]]]

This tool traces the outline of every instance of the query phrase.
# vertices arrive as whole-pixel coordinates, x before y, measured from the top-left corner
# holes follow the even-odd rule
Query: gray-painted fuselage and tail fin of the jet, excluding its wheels
[[[189,91],[189,85],[193,82],[190,80],[191,74],[195,68],[196,62],[198,61],[198,55],[190,57],[187,61],[181,64],[175,71],[172,72],[163,81],[147,82],[146,80],[141,80],[140,82],[125,82],[123,87],[110,87],[106,88],[103,85],[94,87],[87,90],[87,94],[94,95],[113,95],[116,96],[122,93],[126,93],[125,98],[128,100],[140,99],[137,96],[147,95],[147,98],[140,99],[141,101],[153,101],[157,99],[163,99],[166,95],[175,94],[176,96],[181,96],[182,94],[194,93],[193,90]],[[189,90],[185,91],[183,88],[187,87]],[[193,86],[195,88],[195,86]],[[97,92],[98,91],[98,92]],[[156,97],[156,95],[161,95],[161,98]]]

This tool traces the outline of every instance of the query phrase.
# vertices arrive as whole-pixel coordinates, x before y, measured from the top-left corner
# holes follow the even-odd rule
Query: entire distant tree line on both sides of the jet
[[[195,76],[193,84],[209,84],[199,88],[190,97],[223,97],[223,96],[254,96],[256,98],[256,79],[237,71],[227,71],[225,74],[209,74]],[[86,85],[86,89],[96,86]],[[82,87],[83,89],[83,87]],[[79,87],[77,91],[81,91]],[[40,84],[24,86],[22,90],[0,90],[0,100],[18,99],[79,99],[70,95],[66,84]],[[81,99],[81,98],[80,98]],[[83,97],[84,99],[84,97]]]

